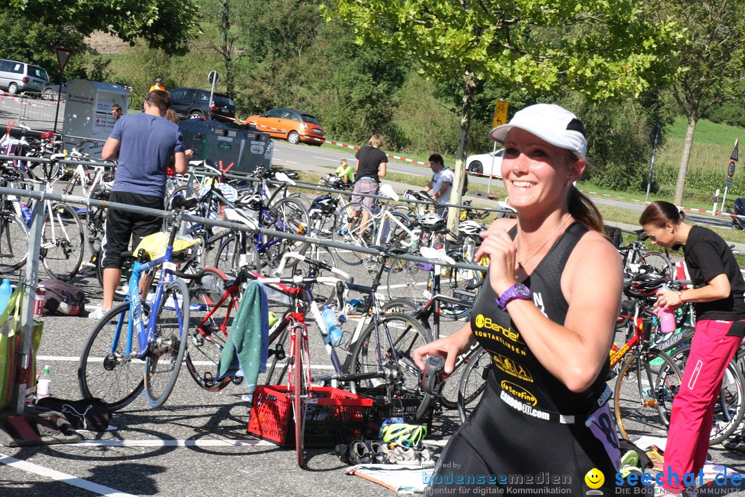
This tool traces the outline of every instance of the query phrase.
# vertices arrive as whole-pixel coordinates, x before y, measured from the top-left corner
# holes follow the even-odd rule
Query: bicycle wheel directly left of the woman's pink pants
[[[662,374],[656,376],[653,367]],[[615,418],[621,436],[627,440],[643,434],[666,437],[680,380],[678,368],[665,353],[650,350],[641,358],[633,353],[618,370],[615,384]]]

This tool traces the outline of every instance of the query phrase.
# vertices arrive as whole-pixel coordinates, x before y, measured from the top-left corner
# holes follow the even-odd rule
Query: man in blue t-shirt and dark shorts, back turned
[[[153,90],[145,98],[145,113],[122,116],[104,144],[101,157],[118,160],[111,201],[163,209],[166,168],[171,161],[177,174],[186,172],[183,136],[179,127],[166,119],[171,95]],[[147,235],[162,229],[162,218],[110,209],[101,244],[104,268],[104,302],[89,317],[99,320],[111,308],[121,280],[121,253]]]

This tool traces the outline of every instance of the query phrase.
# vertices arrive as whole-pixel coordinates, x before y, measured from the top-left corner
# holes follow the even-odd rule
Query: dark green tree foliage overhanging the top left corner
[[[98,30],[130,43],[145,39],[168,54],[184,53],[199,31],[193,0],[10,0],[0,7],[0,15],[7,13],[82,36]]]

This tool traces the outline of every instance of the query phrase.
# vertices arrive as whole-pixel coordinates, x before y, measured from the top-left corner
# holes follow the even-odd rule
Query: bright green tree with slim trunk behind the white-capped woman
[[[500,80],[527,95],[567,86],[601,101],[638,94],[666,74],[675,26],[648,22],[638,4],[335,0],[324,13],[349,23],[359,43],[385,47],[418,64],[428,77],[462,77],[454,181],[460,192],[479,81]],[[457,212],[450,213],[448,224],[457,226]]]

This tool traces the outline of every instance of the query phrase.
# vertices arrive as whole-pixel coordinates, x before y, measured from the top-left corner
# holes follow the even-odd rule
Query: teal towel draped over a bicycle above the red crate
[[[264,285],[253,280],[238,304],[225,348],[220,355],[218,379],[240,367],[248,393],[256,390],[259,373],[267,370],[269,357],[269,308]]]

